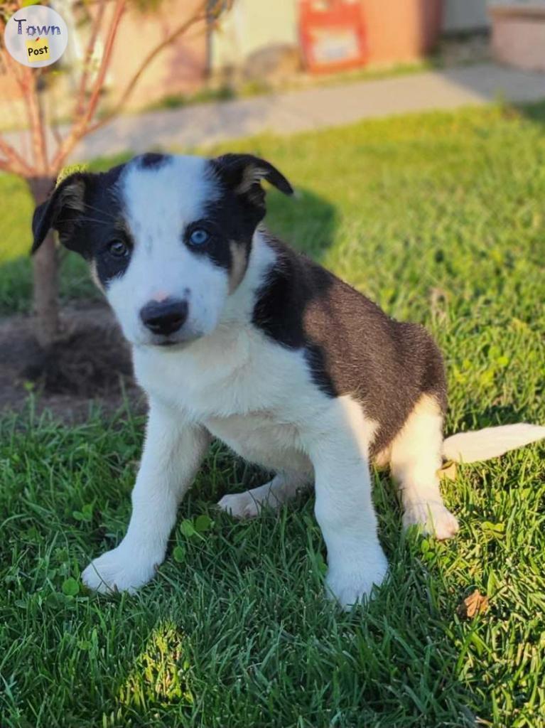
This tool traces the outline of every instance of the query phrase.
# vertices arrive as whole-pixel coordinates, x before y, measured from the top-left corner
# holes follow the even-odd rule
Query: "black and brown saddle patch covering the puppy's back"
[[[352,395],[378,422],[371,455],[401,430],[423,394],[446,408],[442,356],[423,327],[399,323],[321,266],[277,240],[277,264],[258,295],[253,323],[289,349],[304,349],[329,397]]]

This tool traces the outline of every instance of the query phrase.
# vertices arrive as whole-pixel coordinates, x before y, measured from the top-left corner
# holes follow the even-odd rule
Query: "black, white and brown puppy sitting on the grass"
[[[279,507],[314,483],[327,584],[342,606],[386,576],[370,463],[389,464],[405,526],[456,534],[437,470],[545,436],[512,425],[443,441],[442,357],[419,325],[398,323],[269,235],[263,159],[145,154],[108,173],[75,173],[33,218],[87,258],[132,344],[149,398],[127,535],[83,572],[93,589],[134,590],[162,563],[176,509],[212,438],[274,473],[224,496],[233,515]]]

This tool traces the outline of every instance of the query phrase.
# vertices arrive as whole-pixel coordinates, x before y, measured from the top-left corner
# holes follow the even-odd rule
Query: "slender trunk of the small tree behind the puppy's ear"
[[[28,186],[36,205],[41,205],[55,186],[55,178],[32,178]],[[50,347],[60,333],[58,266],[55,236],[49,231],[33,256],[34,331],[42,349]]]

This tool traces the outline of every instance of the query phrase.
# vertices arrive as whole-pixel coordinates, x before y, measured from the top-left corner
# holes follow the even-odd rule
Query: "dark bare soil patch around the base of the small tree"
[[[130,349],[106,304],[63,309],[63,335],[49,352],[38,346],[30,317],[0,320],[0,411],[22,412],[30,392],[38,411],[67,422],[85,419],[91,403],[106,413],[125,400],[138,411],[145,408]]]

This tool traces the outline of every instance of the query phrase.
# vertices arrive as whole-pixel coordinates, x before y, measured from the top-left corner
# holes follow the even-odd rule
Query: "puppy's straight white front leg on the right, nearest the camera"
[[[335,400],[308,432],[314,512],[327,546],[327,585],[343,609],[368,596],[388,569],[371,499],[367,451],[372,435],[373,423],[350,397]]]

